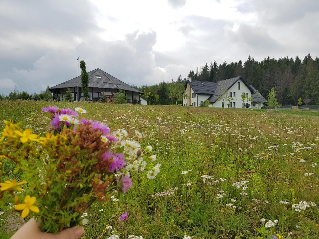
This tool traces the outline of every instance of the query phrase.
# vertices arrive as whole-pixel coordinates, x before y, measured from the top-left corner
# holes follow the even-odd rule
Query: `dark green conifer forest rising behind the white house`
[[[266,99],[272,87],[276,98],[282,105],[297,105],[298,98],[309,99],[311,105],[319,104],[319,58],[314,59],[310,53],[302,59],[293,57],[264,58],[256,61],[249,56],[245,62],[231,62],[217,65],[216,61],[197,67],[189,72],[188,77],[196,81],[216,82],[242,76],[248,84],[253,85]],[[145,92],[148,104],[181,104],[186,78],[178,76],[177,80],[161,82],[151,86],[137,87]],[[176,92],[176,93],[175,93]],[[158,96],[157,96],[158,95]]]

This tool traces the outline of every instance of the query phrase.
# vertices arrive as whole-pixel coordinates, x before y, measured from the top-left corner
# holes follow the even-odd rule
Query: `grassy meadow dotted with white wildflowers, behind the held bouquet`
[[[0,129],[12,119],[43,134],[41,107],[51,104],[1,101]],[[139,130],[162,164],[155,180],[136,172],[123,199],[93,205],[83,238],[318,238],[319,112],[55,104],[83,107],[114,130]],[[6,172],[13,167],[4,162]],[[125,211],[128,220],[118,221]],[[0,238],[9,238],[11,211],[0,212]]]

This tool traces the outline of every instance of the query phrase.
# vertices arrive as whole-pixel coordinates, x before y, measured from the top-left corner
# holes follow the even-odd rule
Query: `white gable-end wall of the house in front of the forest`
[[[238,90],[238,82],[240,82],[240,90]],[[242,100],[241,100],[242,93],[248,93],[248,97],[251,97],[251,91],[241,80],[236,81],[234,85],[230,87],[228,91],[225,92],[226,96],[229,96],[230,91],[235,92],[235,97],[234,97],[234,93],[232,93],[233,94],[232,108],[233,108],[233,102],[235,102],[235,108],[242,108]],[[246,103],[246,100],[245,100],[245,103]],[[229,104],[229,102],[225,101],[224,103],[225,108],[227,108],[227,104]],[[251,105],[251,101],[248,101],[248,104]],[[217,100],[217,102],[215,102],[212,105],[212,107],[221,107],[220,98]]]

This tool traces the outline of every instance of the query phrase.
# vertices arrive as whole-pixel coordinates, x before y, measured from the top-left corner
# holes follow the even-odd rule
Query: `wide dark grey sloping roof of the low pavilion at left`
[[[140,94],[143,92],[131,87],[130,85],[120,81],[119,79],[111,76],[110,74],[106,73],[101,69],[95,69],[88,72],[89,74],[89,88],[107,88],[107,89],[122,89],[124,91],[134,91]],[[100,76],[101,78],[96,78],[96,76]],[[58,84],[49,88],[49,90],[53,89],[61,89],[61,88],[70,88],[70,87],[77,87],[81,86],[81,76],[75,77],[71,80]]]

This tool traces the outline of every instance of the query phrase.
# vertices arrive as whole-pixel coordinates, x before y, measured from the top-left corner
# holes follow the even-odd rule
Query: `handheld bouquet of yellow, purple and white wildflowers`
[[[119,197],[132,186],[133,171],[144,171],[154,179],[152,147],[141,149],[141,134],[128,138],[125,130],[110,132],[98,121],[78,119],[82,108],[42,108],[51,122],[45,137],[5,121],[0,137],[1,204],[12,203],[22,218],[41,220],[41,229],[57,233],[81,224],[81,216],[96,200]],[[1,167],[4,159],[16,164],[10,178]],[[1,180],[0,180],[1,181]],[[23,188],[23,189],[22,189]]]

